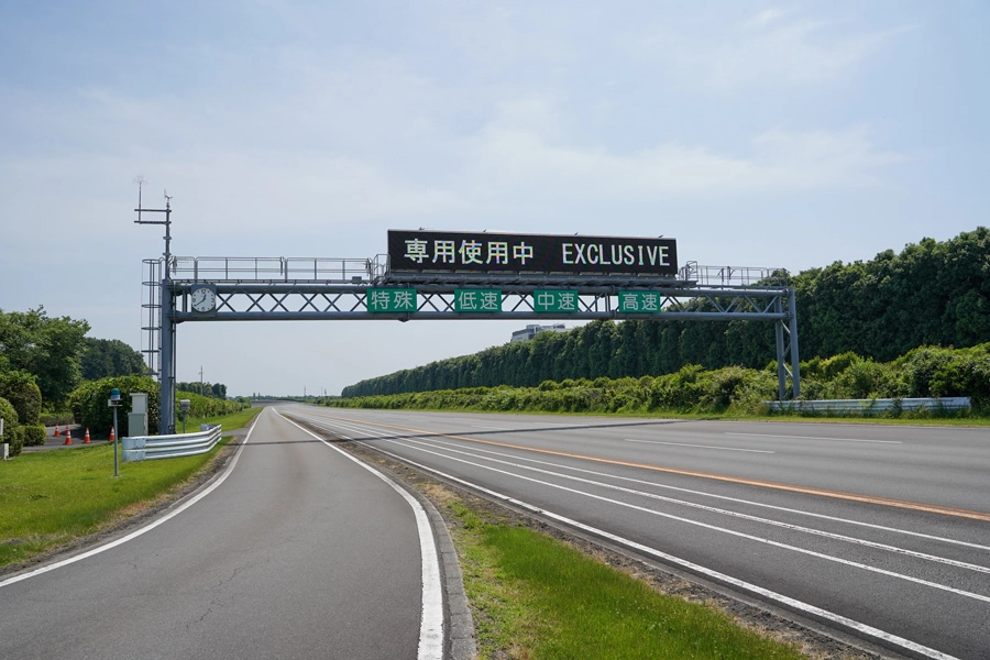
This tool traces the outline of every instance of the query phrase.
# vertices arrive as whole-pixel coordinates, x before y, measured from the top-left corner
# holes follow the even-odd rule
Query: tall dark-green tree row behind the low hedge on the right
[[[790,276],[804,360],[843,353],[890,362],[919,346],[990,341],[990,230],[923,239],[868,262],[835,262]],[[678,373],[688,365],[765,369],[774,328],[756,321],[594,321],[462,358],[362,381],[344,397],[494,387],[566,378]]]

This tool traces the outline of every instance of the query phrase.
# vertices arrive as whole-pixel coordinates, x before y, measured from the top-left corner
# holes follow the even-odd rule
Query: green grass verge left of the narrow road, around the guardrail
[[[230,430],[260,410],[209,421]],[[110,444],[22,453],[0,464],[0,566],[26,561],[141,510],[190,479],[218,451],[121,462],[119,477],[113,476]]]

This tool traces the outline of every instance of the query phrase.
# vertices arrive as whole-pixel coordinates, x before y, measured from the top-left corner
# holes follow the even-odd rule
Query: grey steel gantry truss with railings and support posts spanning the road
[[[698,266],[689,262],[678,277],[534,274],[392,273],[387,258],[170,257],[145,260],[150,370],[162,385],[160,432],[175,424],[175,330],[197,321],[457,320],[457,319],[652,319],[661,321],[754,320],[776,323],[779,398],[801,391],[798,319],[785,272],[769,268]],[[166,268],[167,263],[167,268]],[[196,311],[191,293],[216,293],[209,311]],[[375,290],[415,290],[415,307],[374,311]],[[497,292],[499,311],[464,311],[458,292]],[[565,290],[566,311],[544,310],[541,293]],[[649,294],[651,311],[635,311],[623,297]],[[661,311],[662,310],[662,311]]]

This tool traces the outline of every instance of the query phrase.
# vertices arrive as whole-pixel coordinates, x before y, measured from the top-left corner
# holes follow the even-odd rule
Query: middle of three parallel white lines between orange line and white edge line
[[[422,444],[422,446],[425,446],[425,447],[430,447],[430,448],[433,448],[433,449],[437,448],[436,444],[430,444],[430,443],[425,442],[425,441],[422,441],[422,440],[405,440],[405,442],[411,442],[411,443],[416,443],[416,444]],[[781,521],[781,520],[771,520],[771,519],[769,519],[769,518],[760,518],[760,517],[758,517],[758,516],[750,516],[749,514],[743,514],[743,513],[739,513],[739,512],[730,512],[730,510],[728,510],[728,509],[722,509],[722,508],[717,508],[717,507],[714,507],[714,506],[707,506],[707,505],[704,505],[704,504],[697,504],[697,503],[695,503],[695,502],[688,502],[688,501],[684,501],[684,499],[675,499],[675,498],[673,498],[673,497],[664,497],[663,495],[658,495],[658,494],[656,494],[656,493],[647,493],[647,492],[645,492],[645,491],[635,491],[635,490],[632,490],[632,488],[626,488],[626,487],[624,487],[624,486],[618,486],[618,485],[615,485],[615,484],[608,484],[608,483],[604,483],[604,482],[592,481],[592,480],[590,480],[590,479],[583,479],[583,477],[580,477],[580,476],[573,476],[573,475],[570,475],[570,474],[563,474],[563,473],[560,473],[560,472],[552,472],[552,471],[550,471],[550,470],[543,470],[543,469],[540,469],[540,468],[531,468],[531,466],[529,466],[529,465],[522,465],[522,464],[519,464],[519,463],[514,463],[514,462],[512,462],[512,461],[503,461],[503,460],[499,460],[499,459],[492,459],[492,458],[487,458],[487,457],[481,457],[481,455],[477,455],[476,453],[472,453],[472,452],[466,451],[466,450],[454,449],[454,448],[458,447],[458,446],[454,444],[454,443],[451,443],[451,442],[437,441],[437,444],[442,444],[442,446],[444,446],[446,448],[448,448],[447,451],[452,451],[452,452],[454,452],[454,453],[464,454],[464,455],[472,457],[472,458],[475,458],[475,459],[481,459],[481,460],[492,461],[492,462],[495,462],[495,463],[502,463],[503,465],[508,465],[508,466],[510,466],[510,468],[517,468],[517,469],[519,469],[519,470],[531,470],[531,471],[538,472],[538,473],[540,473],[540,474],[546,474],[546,475],[549,475],[549,476],[557,476],[557,477],[560,477],[560,479],[569,479],[569,480],[571,480],[571,481],[576,481],[576,482],[584,483],[584,484],[588,484],[588,485],[592,485],[592,486],[598,486],[598,487],[602,487],[602,488],[608,488],[608,490],[610,490],[610,491],[618,491],[618,492],[620,492],[620,493],[628,493],[629,495],[636,495],[636,496],[639,496],[639,497],[647,497],[647,498],[649,498],[649,499],[657,499],[657,501],[659,501],[659,502],[666,502],[666,503],[668,503],[668,504],[676,504],[676,505],[685,506],[685,507],[688,507],[688,508],[695,508],[695,509],[700,509],[700,510],[710,512],[710,513],[713,513],[713,514],[719,514],[719,515],[723,515],[723,516],[729,516],[729,517],[733,517],[733,518],[740,518],[740,519],[743,519],[743,520],[750,520],[750,521],[752,521],[752,522],[760,522],[760,524],[763,524],[763,525],[770,525],[770,526],[773,526],[773,527],[780,527],[780,528],[782,528],[782,529],[789,529],[789,530],[791,530],[791,531],[800,531],[800,532],[809,534],[809,535],[812,535],[812,536],[820,536],[820,537],[824,537],[824,538],[834,539],[834,540],[837,540],[837,541],[845,541],[845,542],[847,542],[847,543],[854,543],[854,544],[857,544],[857,546],[866,546],[866,547],[868,547],[868,548],[873,548],[873,549],[876,549],[876,550],[886,550],[886,551],[888,551],[888,552],[893,552],[893,553],[897,553],[897,554],[905,554],[905,556],[909,556],[909,557],[914,557],[915,559],[923,559],[923,560],[926,560],[926,561],[932,561],[932,562],[936,562],[936,563],[943,563],[943,564],[946,564],[946,565],[955,566],[955,568],[957,568],[957,569],[965,569],[965,570],[969,570],[969,571],[976,571],[976,572],[978,572],[978,573],[990,573],[990,568],[988,568],[988,566],[981,566],[981,565],[979,565],[979,564],[971,564],[971,563],[964,562],[964,561],[958,561],[958,560],[955,560],[955,559],[947,559],[947,558],[944,558],[944,557],[937,557],[937,556],[934,556],[934,554],[927,554],[927,553],[925,553],[925,552],[917,552],[917,551],[915,551],[915,550],[909,550],[909,549],[906,549],[906,548],[898,548],[898,547],[895,547],[895,546],[888,546],[887,543],[879,543],[879,542],[877,542],[877,541],[870,541],[870,540],[867,540],[867,539],[858,539],[858,538],[845,536],[845,535],[842,535],[842,534],[835,534],[835,532],[831,532],[831,531],[825,531],[825,530],[823,530],[823,529],[813,529],[813,528],[811,528],[811,527],[803,527],[803,526],[800,526],[800,525],[793,525],[793,524],[791,524],[791,522],[783,522],[783,521]],[[421,450],[421,451],[425,451],[425,450]],[[494,452],[494,451],[487,451],[487,450],[481,450],[481,449],[476,449],[475,451],[484,452],[484,453],[491,453],[491,454],[495,454],[495,455],[504,455],[505,458],[515,458],[515,457],[509,457],[509,455],[507,455],[507,454],[498,454],[498,453],[496,453],[496,452]],[[433,452],[429,452],[429,453],[433,453]],[[436,455],[443,455],[443,454],[436,454]],[[451,458],[451,457],[447,457],[447,458]],[[547,464],[547,465],[553,465],[552,463],[546,463],[546,464]],[[554,465],[554,466],[556,466],[556,465]],[[602,475],[602,476],[608,476],[608,475]]]

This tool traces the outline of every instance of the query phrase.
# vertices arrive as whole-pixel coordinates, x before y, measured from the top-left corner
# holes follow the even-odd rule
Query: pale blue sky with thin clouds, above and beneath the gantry
[[[872,258],[988,223],[990,4],[0,3],[0,309],[141,348],[133,223],[183,256],[369,257],[388,229]],[[800,317],[800,310],[799,310]],[[185,323],[178,377],[334,394],[513,322]]]

